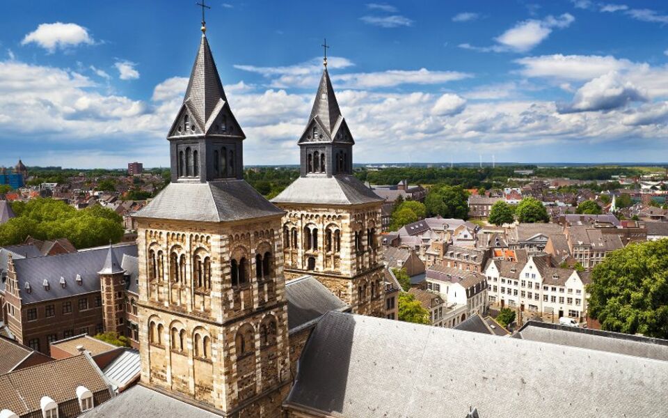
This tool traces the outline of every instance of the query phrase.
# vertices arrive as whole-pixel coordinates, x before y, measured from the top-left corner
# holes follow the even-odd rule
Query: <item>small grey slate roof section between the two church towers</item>
[[[346,311],[350,307],[312,276],[285,284],[287,325],[289,330],[314,322],[328,311]]]

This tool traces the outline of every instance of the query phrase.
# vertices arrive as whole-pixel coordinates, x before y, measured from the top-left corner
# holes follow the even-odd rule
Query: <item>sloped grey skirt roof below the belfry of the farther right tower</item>
[[[294,180],[271,201],[273,203],[356,205],[381,202],[383,199],[355,176],[308,176]]]

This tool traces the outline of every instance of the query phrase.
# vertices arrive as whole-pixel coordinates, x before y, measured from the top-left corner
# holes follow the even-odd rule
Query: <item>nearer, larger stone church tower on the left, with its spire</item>
[[[135,216],[141,382],[225,416],[276,417],[289,387],[284,212],[243,180],[244,138],[202,22],[167,137],[172,181]]]

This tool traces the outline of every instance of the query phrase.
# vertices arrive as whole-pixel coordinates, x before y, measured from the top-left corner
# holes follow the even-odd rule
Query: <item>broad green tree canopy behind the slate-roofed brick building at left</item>
[[[86,248],[123,236],[122,217],[102,206],[76,210],[63,201],[33,199],[15,201],[12,208],[17,216],[0,225],[0,246],[20,244],[30,235],[38,240],[67,238],[74,247]]]

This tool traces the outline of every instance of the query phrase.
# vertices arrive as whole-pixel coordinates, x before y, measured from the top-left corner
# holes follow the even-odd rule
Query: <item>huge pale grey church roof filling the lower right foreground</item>
[[[286,399],[343,417],[653,417],[668,362],[330,312]]]

